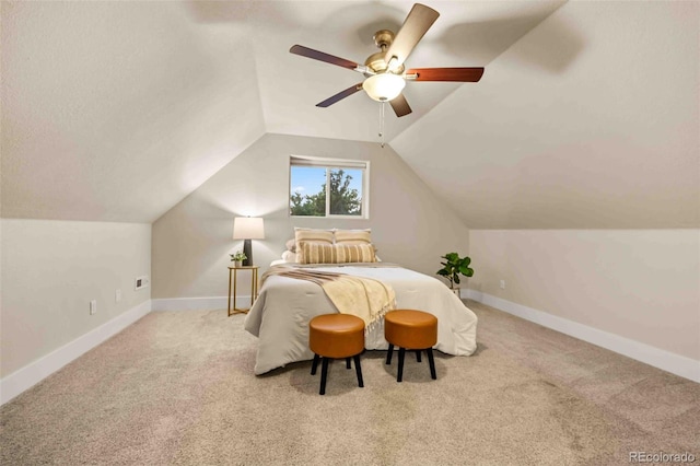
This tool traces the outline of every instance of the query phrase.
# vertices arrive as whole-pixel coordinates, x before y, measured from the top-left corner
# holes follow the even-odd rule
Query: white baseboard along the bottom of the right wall
[[[552,330],[700,383],[700,361],[479,291],[462,290],[462,298],[478,301]]]

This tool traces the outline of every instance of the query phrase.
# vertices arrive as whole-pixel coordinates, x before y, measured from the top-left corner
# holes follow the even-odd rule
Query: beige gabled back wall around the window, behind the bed
[[[289,156],[370,161],[370,219],[292,219]],[[153,298],[226,295],[233,218],[265,218],[256,265],[280,258],[294,226],[372,229],[385,261],[434,275],[440,256],[466,254],[468,230],[390,149],[376,143],[266,135],[153,224]],[[247,278],[246,278],[247,280]],[[246,282],[247,284],[247,282]]]

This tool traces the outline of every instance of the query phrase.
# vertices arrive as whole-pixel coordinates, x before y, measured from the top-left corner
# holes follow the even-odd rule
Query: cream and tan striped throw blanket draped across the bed
[[[318,284],[341,314],[352,314],[364,321],[365,331],[387,311],[396,308],[394,289],[380,280],[320,270],[271,267],[261,277],[270,275],[307,280]]]

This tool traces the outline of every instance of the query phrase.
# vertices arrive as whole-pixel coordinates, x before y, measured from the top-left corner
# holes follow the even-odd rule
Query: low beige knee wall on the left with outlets
[[[2,219],[0,229],[2,377],[151,298],[133,290],[151,273],[149,224]]]

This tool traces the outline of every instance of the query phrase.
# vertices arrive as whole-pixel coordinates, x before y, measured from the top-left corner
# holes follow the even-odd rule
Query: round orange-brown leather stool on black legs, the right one
[[[384,338],[389,342],[386,364],[392,364],[394,346],[398,349],[398,375],[396,382],[404,378],[404,354],[406,350],[415,350],[418,362],[420,352],[425,350],[430,363],[430,376],[435,380],[435,360],[433,345],[438,342],[438,317],[422,311],[389,311],[384,317]]]

